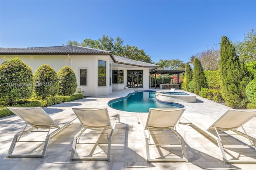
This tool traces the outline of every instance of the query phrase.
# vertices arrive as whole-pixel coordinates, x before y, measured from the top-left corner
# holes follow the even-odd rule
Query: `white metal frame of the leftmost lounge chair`
[[[28,120],[25,119],[24,121],[27,122],[27,123],[26,123],[24,129],[22,130],[22,132],[14,135],[14,138],[12,140],[12,144],[11,144],[9,150],[8,150],[6,158],[10,158],[10,157],[41,157],[41,158],[44,158],[45,155],[46,155],[46,150],[48,148],[50,138],[52,136],[58,134],[58,132],[60,132],[60,130],[62,130],[63,128],[68,126],[72,121],[74,121],[76,119],[76,117],[75,117],[75,118],[71,119],[70,121],[68,121],[67,123],[65,123],[64,125],[62,125],[60,127],[42,109],[42,107],[8,107],[8,109],[10,111],[12,111],[14,114],[16,114],[18,117],[20,117],[21,119],[23,118],[23,120],[24,120],[24,114],[20,114],[19,111],[26,111],[26,110],[33,110],[33,109],[36,110],[37,109],[36,110],[37,112],[35,113],[36,114],[35,116],[38,116],[39,114],[42,114],[45,119],[48,119],[48,121],[51,122],[51,124],[49,124],[49,125],[38,125],[37,126],[37,125],[34,125],[34,123],[30,123],[30,122],[28,122]],[[28,125],[30,125],[31,128],[26,130]],[[36,131],[36,130],[38,130],[38,128],[46,129],[46,130]],[[53,132],[50,132],[53,128],[56,128],[56,130],[54,130]],[[37,132],[37,133],[47,132],[47,134],[46,134],[45,140],[21,140],[22,135],[26,134],[26,133],[29,133],[29,132],[33,132],[33,133],[35,133],[35,132]],[[40,143],[44,143],[44,148],[42,150],[42,154],[12,154],[14,152],[14,148],[15,148],[15,146],[18,142],[40,142]]]

